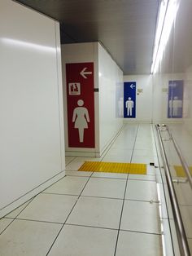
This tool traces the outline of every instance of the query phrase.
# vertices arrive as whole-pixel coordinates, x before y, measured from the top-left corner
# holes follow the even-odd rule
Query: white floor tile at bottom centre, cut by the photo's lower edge
[[[116,237],[116,230],[65,225],[49,255],[111,256],[116,248]]]

